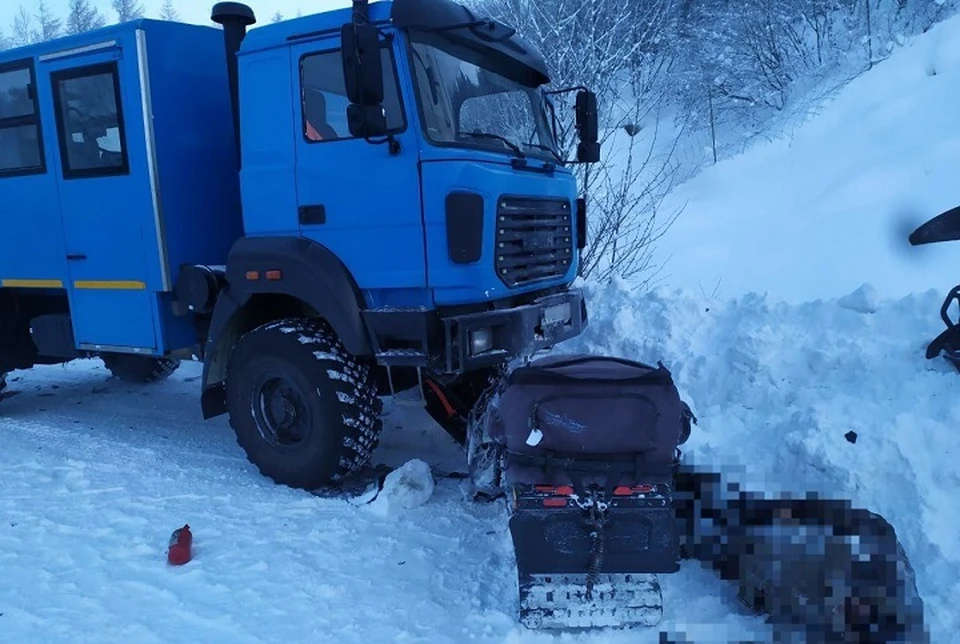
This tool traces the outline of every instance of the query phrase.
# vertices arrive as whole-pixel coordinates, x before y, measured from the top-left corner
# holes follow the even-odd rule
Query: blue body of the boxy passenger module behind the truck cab
[[[192,346],[190,319],[171,308],[176,269],[224,263],[242,234],[221,33],[134,21],[2,52],[0,67],[25,59],[35,69],[45,171],[0,176],[0,200],[11,204],[0,215],[0,279],[59,282],[77,348]],[[71,108],[58,106],[112,74],[122,127],[99,140],[125,150],[126,167],[78,175],[81,157],[67,146],[85,137]]]

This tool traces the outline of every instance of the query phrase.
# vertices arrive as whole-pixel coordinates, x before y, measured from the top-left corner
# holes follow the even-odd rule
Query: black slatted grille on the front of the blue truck
[[[570,202],[503,197],[497,206],[497,274],[507,286],[560,277],[573,259]]]

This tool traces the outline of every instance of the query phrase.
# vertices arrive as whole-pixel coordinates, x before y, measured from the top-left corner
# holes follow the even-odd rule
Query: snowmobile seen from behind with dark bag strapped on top
[[[662,364],[551,356],[503,379],[471,428],[470,462],[481,492],[508,498],[524,625],[659,622],[692,420]]]

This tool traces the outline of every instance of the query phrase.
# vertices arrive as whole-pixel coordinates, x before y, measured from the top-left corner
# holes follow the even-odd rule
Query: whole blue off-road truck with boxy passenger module
[[[203,418],[298,488],[362,467],[398,392],[462,438],[497,369],[587,323],[596,96],[450,0],[211,18],[0,52],[0,374],[202,360]]]

